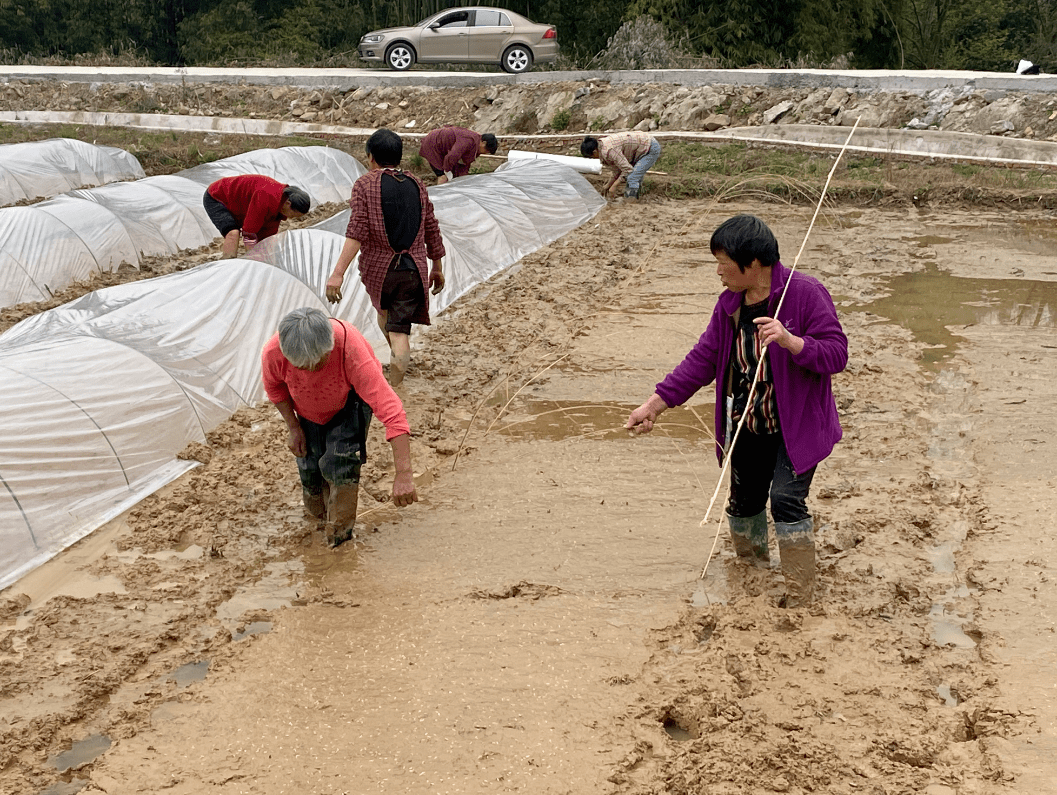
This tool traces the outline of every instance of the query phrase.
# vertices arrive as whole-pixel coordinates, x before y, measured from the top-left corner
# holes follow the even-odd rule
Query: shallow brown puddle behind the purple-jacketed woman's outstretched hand
[[[628,414],[637,407],[638,404],[588,404],[528,398],[513,404],[493,430],[512,438],[551,442],[567,439],[627,440],[628,431],[624,424]],[[685,407],[668,409],[654,428],[653,436],[689,441],[710,440],[712,412],[703,408],[696,410],[697,415]]]

